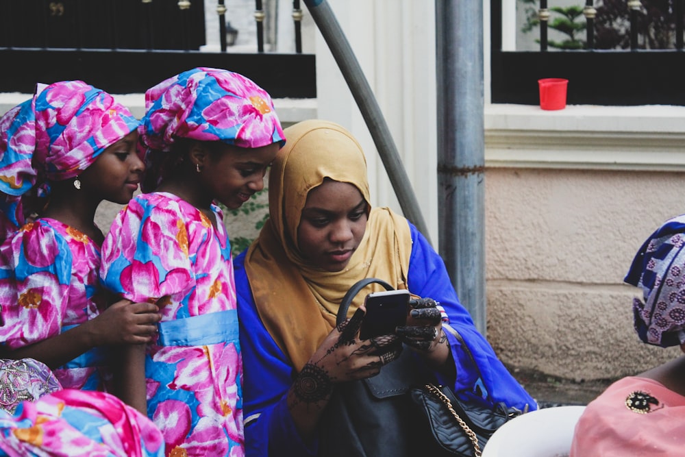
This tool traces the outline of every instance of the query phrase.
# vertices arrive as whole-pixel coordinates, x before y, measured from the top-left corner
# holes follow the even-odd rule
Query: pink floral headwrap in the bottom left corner
[[[208,454],[212,455],[212,454]],[[0,411],[0,457],[164,457],[162,434],[103,392],[66,389]]]

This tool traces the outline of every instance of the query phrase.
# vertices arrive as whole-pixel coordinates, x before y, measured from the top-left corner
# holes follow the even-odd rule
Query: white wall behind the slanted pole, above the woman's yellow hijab
[[[328,2],[375,93],[436,244],[436,77],[432,1]],[[400,210],[373,139],[325,40],[316,33],[318,115],[340,123],[366,151],[371,199]]]

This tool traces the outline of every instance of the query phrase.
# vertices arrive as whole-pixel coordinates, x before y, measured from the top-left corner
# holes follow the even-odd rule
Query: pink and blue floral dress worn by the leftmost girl
[[[0,341],[16,349],[93,319],[105,309],[99,246],[55,219],[24,225],[0,247]],[[108,367],[89,351],[53,370],[64,388],[107,390]]]

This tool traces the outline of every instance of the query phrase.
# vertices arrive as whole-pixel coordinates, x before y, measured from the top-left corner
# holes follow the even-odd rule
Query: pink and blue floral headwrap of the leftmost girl
[[[49,182],[69,180],[140,121],[112,95],[83,81],[38,84],[0,119],[0,219],[21,227]],[[0,237],[2,234],[0,234]]]

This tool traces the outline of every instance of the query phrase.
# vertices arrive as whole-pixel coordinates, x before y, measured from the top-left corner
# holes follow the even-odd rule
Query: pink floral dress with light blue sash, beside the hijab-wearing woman
[[[223,214],[170,193],[134,198],[102,247],[105,287],[160,305],[145,360],[147,413],[166,455],[242,456],[242,358],[234,273]]]

